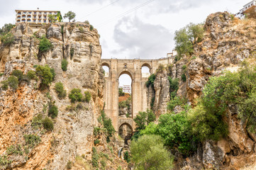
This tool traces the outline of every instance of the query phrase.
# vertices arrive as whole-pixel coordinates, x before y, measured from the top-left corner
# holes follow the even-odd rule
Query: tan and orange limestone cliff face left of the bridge
[[[55,69],[55,79],[49,89],[38,90],[40,81],[22,81],[18,89],[0,91],[0,155],[11,145],[24,144],[23,135],[37,134],[40,144],[30,149],[28,155],[11,158],[14,169],[66,169],[68,161],[77,155],[91,157],[93,131],[96,119],[103,108],[104,73],[101,68],[101,45],[97,31],[89,30],[86,23],[52,23],[30,26],[21,23],[11,31],[11,46],[0,45],[0,72],[4,81],[15,69],[23,74],[35,70],[34,65],[48,64]],[[42,37],[48,38],[52,48],[39,52]],[[67,72],[61,69],[61,61],[68,62]],[[62,82],[67,94],[74,89],[89,91],[91,101],[81,103],[78,111],[69,111],[69,98],[57,98],[55,83]],[[33,117],[47,116],[50,101],[55,102],[58,116],[52,132],[40,132],[31,128]],[[74,104],[76,105],[76,104]],[[25,159],[25,157],[27,157]],[[1,169],[1,168],[0,168]]]

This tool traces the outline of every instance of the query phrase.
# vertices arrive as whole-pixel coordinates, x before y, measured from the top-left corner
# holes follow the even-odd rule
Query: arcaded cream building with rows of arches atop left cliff
[[[15,10],[16,11],[16,23],[50,23],[48,15],[55,15],[57,22],[62,21],[62,15],[60,11],[31,11],[31,10]]]

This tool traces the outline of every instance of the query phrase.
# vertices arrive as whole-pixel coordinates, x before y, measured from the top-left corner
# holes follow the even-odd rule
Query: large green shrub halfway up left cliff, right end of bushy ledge
[[[52,74],[52,70],[48,65],[45,65],[45,66],[38,65],[38,67],[36,67],[35,69],[35,74],[38,75],[38,77],[40,77],[40,79],[42,80],[40,85],[43,88],[48,86],[52,82],[54,77],[54,75]]]

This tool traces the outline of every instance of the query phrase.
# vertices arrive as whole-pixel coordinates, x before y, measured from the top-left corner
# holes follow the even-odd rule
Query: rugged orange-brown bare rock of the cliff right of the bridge
[[[156,74],[153,89],[152,86],[148,89],[148,98],[155,97],[152,108],[157,115],[166,113],[164,109],[156,108],[169,102],[168,77],[179,79],[177,96],[187,98],[187,103],[194,107],[209,77],[218,77],[224,70],[236,72],[241,62],[256,57],[255,19],[240,20],[227,12],[213,13],[206,19],[204,30],[204,40],[194,46],[194,55],[183,56],[182,60]],[[182,74],[187,78],[184,81]],[[148,102],[152,101],[150,99]],[[177,106],[174,113],[180,109]],[[238,108],[228,106],[223,120],[228,125],[228,136],[218,142],[203,142],[193,157],[178,158],[177,169],[243,169],[255,166],[255,135],[238,118]]]

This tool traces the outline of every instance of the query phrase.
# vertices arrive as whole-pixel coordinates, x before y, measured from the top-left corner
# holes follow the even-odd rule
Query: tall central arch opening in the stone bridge
[[[118,78],[118,117],[133,118],[132,77],[123,72]]]

